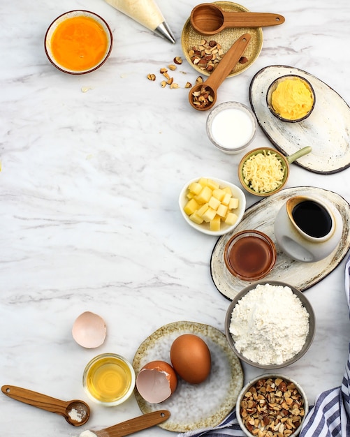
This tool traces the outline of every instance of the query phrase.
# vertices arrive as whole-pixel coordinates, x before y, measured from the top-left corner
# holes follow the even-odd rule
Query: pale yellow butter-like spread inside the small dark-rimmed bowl
[[[314,98],[307,84],[300,79],[279,82],[272,93],[272,107],[284,119],[296,120],[308,114]]]

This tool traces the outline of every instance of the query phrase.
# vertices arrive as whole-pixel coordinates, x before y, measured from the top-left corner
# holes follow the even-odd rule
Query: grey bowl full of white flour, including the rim
[[[235,296],[225,319],[226,339],[240,360],[260,369],[298,361],[314,340],[314,310],[288,283],[258,281]]]

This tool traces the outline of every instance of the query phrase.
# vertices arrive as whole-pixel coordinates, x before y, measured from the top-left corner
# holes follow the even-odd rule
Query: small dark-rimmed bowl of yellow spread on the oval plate
[[[281,121],[297,123],[307,119],[314,110],[316,96],[305,77],[284,75],[268,87],[266,103],[270,112]]]

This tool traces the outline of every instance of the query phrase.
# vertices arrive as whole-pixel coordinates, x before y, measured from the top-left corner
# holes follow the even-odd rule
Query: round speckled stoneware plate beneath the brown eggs
[[[158,426],[168,431],[186,432],[219,424],[235,406],[243,387],[240,360],[228,346],[226,336],[218,329],[201,323],[180,321],[156,330],[138,348],[133,359],[136,375],[153,360],[170,363],[170,347],[182,334],[195,334],[207,343],[212,357],[210,376],[193,385],[179,378],[176,391],[162,403],[148,403],[135,389],[136,400],[143,413],[163,409],[171,416]]]

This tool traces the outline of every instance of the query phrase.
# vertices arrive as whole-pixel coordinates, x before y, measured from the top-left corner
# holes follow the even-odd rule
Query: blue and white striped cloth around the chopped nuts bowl
[[[350,256],[345,267],[345,292],[350,310]],[[178,437],[245,437],[235,410],[214,429],[189,431]],[[342,385],[323,392],[309,409],[299,437],[350,437],[350,343]]]

